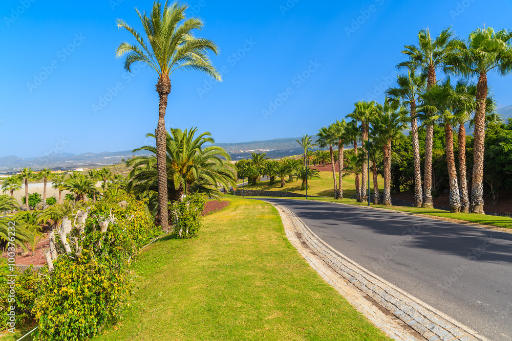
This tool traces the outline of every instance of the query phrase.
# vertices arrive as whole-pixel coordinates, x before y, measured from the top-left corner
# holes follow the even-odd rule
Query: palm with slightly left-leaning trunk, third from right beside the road
[[[446,147],[446,162],[448,165],[448,178],[450,185],[450,212],[460,212],[461,201],[455,167],[455,154],[453,144],[453,127],[467,116],[465,108],[471,105],[472,97],[462,92],[456,93],[450,83],[450,77],[441,84],[434,85],[427,90],[421,101],[421,111],[432,113],[430,120],[436,120],[444,127]]]

